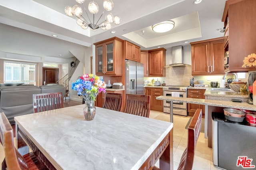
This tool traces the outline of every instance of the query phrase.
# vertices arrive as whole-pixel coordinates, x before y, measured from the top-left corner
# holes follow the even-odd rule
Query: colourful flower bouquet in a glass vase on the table
[[[106,92],[106,83],[100,77],[93,74],[84,74],[72,82],[72,89],[84,98],[84,118],[91,121],[95,117],[96,107],[94,101],[100,92]]]

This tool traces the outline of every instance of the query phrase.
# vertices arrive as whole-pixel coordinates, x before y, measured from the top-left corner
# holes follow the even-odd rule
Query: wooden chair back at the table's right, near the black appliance
[[[188,125],[188,146],[182,154],[178,170],[192,170],[196,142],[198,140],[202,124],[202,109],[196,109],[190,124]]]

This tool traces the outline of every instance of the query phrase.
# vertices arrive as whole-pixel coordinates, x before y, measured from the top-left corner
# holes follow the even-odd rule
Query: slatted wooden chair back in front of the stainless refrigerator
[[[150,112],[150,96],[126,94],[125,113],[149,117]]]

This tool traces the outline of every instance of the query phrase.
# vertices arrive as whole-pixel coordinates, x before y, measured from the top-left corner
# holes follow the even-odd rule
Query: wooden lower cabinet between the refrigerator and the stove
[[[162,88],[146,87],[144,88],[144,94],[150,95],[150,110],[163,111],[163,101],[156,99],[156,97],[163,95]]]

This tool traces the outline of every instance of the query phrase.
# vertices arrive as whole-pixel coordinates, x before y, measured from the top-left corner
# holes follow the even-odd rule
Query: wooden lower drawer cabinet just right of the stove
[[[204,92],[205,89],[188,89],[188,98],[205,99]],[[196,109],[202,109],[202,118],[204,118],[205,106],[193,103],[188,103],[188,116],[194,116]]]

